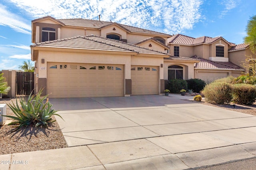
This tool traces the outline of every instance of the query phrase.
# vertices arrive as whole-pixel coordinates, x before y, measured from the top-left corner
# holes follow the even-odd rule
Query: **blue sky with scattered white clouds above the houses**
[[[1,0],[0,70],[30,60],[31,20],[86,18],[190,37],[243,43],[255,0]]]

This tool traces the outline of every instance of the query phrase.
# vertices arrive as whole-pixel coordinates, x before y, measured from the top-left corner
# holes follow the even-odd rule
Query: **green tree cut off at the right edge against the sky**
[[[250,43],[252,53],[256,53],[256,15],[250,17],[246,26],[247,36],[244,37],[245,43]]]

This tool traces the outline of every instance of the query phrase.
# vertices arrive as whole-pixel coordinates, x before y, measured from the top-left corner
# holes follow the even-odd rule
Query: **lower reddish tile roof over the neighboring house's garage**
[[[231,62],[219,62],[219,61],[210,61],[206,59],[202,59],[196,56],[191,57],[193,59],[199,59],[199,63],[194,63],[194,68],[198,69],[215,69],[215,70],[241,70],[244,69],[234,63]]]

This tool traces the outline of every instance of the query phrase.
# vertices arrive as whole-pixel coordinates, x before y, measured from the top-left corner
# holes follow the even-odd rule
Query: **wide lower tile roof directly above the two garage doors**
[[[65,39],[57,39],[53,41],[46,41],[36,43],[31,47],[51,47],[51,48],[64,48],[64,49],[84,49],[84,50],[101,50],[101,51],[122,51],[122,52],[135,52],[138,54],[150,55],[163,55],[169,56],[167,53],[155,51],[140,47],[137,45],[116,41],[105,37],[96,35],[76,36]]]

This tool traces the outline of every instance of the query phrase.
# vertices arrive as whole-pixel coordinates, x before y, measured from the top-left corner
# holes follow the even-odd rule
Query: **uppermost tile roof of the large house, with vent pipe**
[[[116,22],[112,22],[112,21],[88,20],[88,19],[82,19],[82,18],[60,19],[58,21],[64,23],[65,25],[92,27],[92,28],[98,28],[98,29],[101,29],[101,28],[106,27],[108,25],[117,24],[117,25],[119,25],[120,27],[123,27],[124,29],[126,29],[129,32],[148,33],[148,34],[164,35],[164,36],[171,37],[171,35],[166,34],[166,33],[150,31],[148,29],[132,27],[132,26],[129,26],[129,25],[124,25],[124,24],[120,24],[120,23],[116,23]]]

